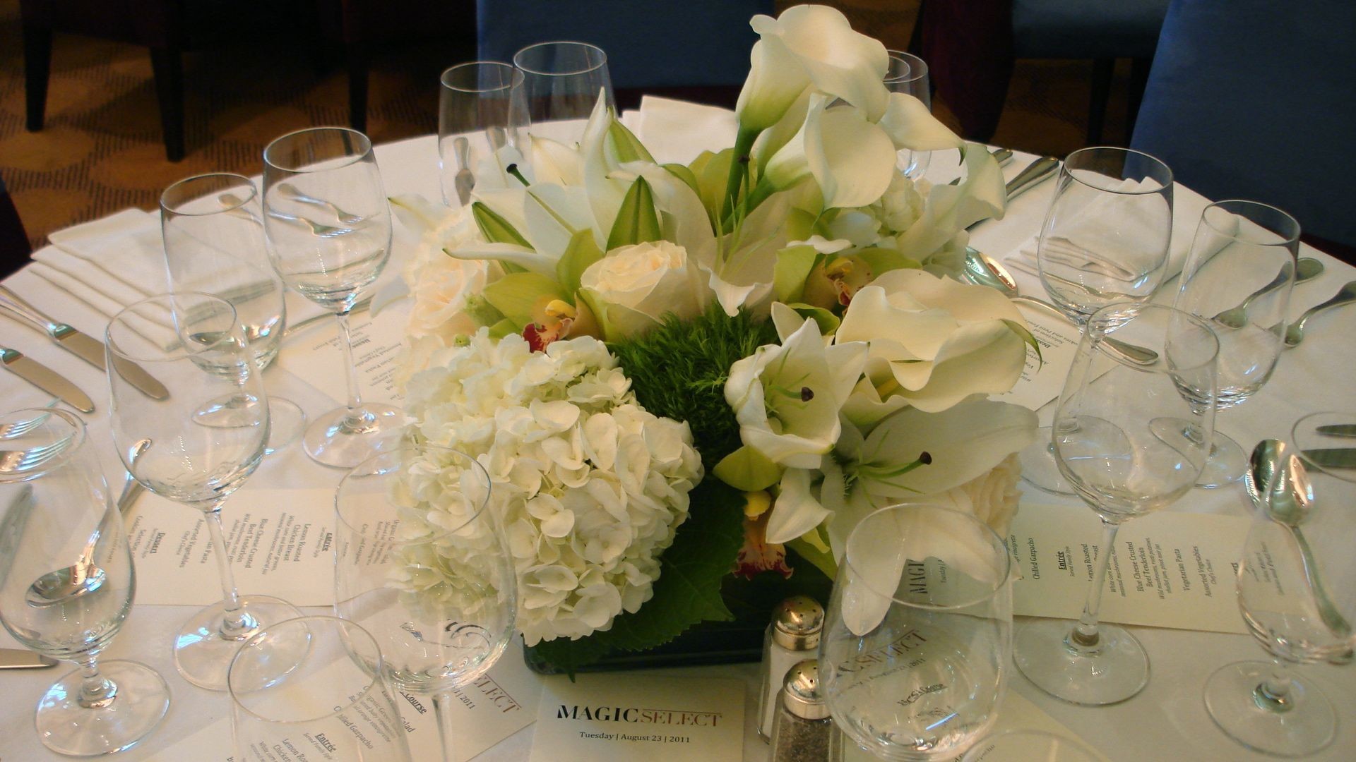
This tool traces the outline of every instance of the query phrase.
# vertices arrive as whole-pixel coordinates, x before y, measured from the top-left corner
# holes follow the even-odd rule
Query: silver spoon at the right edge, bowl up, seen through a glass
[[[1314,552],[1310,550],[1304,534],[1299,530],[1299,525],[1309,515],[1314,499],[1304,464],[1290,452],[1284,442],[1262,439],[1253,447],[1243,479],[1253,504],[1265,508],[1267,515],[1290,529],[1290,534],[1295,538],[1295,545],[1299,546],[1299,561],[1304,568],[1304,579],[1309,580],[1309,587],[1314,593],[1314,605],[1318,607],[1318,617],[1323,621],[1323,626],[1337,637],[1351,637],[1352,625],[1323,590],[1323,584],[1318,579]]]

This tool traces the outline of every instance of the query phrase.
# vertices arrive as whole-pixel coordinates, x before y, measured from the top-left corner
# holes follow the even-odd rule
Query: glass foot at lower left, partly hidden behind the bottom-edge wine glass
[[[235,637],[221,633],[225,609],[213,603],[193,616],[175,635],[174,664],[183,679],[207,690],[226,689],[226,670],[240,648],[240,641],[260,629],[301,616],[296,606],[271,595],[241,595],[240,607],[251,617],[251,626]]]

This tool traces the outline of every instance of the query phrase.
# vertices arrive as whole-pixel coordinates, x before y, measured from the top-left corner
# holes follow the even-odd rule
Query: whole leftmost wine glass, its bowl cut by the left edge
[[[99,662],[136,590],[122,517],[73,414],[19,409],[0,430],[0,620],[26,647],[80,664],[38,700],[38,736],[75,757],[129,748],[160,724],[170,689],[145,664]]]

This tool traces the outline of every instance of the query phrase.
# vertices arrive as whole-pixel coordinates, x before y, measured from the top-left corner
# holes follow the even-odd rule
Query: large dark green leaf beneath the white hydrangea
[[[734,616],[720,597],[744,541],[744,498],[708,477],[690,495],[692,508],[659,559],[655,594],[635,614],[621,614],[605,632],[568,640],[544,640],[533,649],[571,675],[612,651],[644,651],[663,645],[692,625]]]

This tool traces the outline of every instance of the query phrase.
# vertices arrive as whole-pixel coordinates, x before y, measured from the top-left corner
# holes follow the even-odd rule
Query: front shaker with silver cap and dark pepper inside
[[[805,659],[786,673],[772,721],[772,762],[839,762],[834,720],[819,690],[819,660]]]

